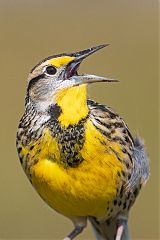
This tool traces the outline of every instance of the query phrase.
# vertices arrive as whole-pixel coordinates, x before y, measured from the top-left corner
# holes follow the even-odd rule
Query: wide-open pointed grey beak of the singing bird
[[[77,85],[85,84],[85,83],[95,83],[95,82],[118,82],[118,80],[115,80],[112,78],[105,78],[105,77],[100,77],[92,74],[78,75],[77,73],[79,65],[81,64],[83,59],[85,59],[89,55],[93,54],[94,52],[108,45],[109,44],[99,45],[96,47],[85,49],[80,52],[73,53],[73,56],[75,58],[66,66],[64,79],[74,80],[75,84],[77,83]]]

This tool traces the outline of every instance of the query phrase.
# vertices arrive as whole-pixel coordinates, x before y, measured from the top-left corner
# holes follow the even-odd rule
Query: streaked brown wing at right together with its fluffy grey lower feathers
[[[93,125],[108,140],[119,142],[126,153],[130,178],[125,181],[125,191],[133,192],[137,186],[145,183],[149,177],[149,160],[140,138],[133,138],[124,120],[111,108],[88,100],[89,118]]]

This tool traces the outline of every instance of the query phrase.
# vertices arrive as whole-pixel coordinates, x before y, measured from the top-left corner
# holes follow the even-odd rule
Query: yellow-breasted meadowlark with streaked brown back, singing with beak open
[[[144,141],[87,95],[89,84],[117,80],[78,73],[84,59],[108,45],[49,56],[28,76],[16,147],[40,197],[73,222],[64,240],[87,222],[97,240],[129,239],[129,212],[149,178]]]

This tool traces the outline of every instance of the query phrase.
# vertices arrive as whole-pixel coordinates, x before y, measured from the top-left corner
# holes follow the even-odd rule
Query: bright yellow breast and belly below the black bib
[[[46,139],[47,138],[47,139]],[[56,139],[47,130],[39,160],[30,168],[32,182],[41,197],[66,216],[97,216],[107,212],[119,188],[121,162],[111,148],[123,155],[118,143],[110,143],[88,120],[83,162],[76,168],[60,164]]]

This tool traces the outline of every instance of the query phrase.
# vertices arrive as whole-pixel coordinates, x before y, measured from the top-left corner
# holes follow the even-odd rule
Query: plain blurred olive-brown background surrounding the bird
[[[38,196],[15,148],[24,111],[26,78],[42,58],[97,44],[111,45],[88,58],[81,72],[114,77],[89,96],[112,106],[140,134],[151,159],[151,177],[130,215],[132,239],[158,238],[158,36],[152,0],[1,0],[0,239],[62,239],[69,220]],[[77,239],[93,239],[90,227]]]

